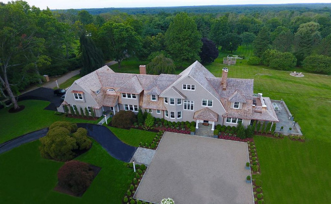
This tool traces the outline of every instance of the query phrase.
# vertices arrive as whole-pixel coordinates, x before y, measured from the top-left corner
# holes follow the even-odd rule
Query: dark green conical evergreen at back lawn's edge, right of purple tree
[[[270,31],[267,27],[262,27],[253,42],[254,55],[261,57],[264,51],[270,46]]]

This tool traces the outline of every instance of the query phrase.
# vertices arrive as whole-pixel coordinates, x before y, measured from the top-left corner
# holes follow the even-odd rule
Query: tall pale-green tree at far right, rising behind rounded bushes
[[[298,31],[294,35],[294,55],[297,58],[297,65],[305,57],[312,53],[312,49],[320,42],[319,24],[315,22],[308,22],[301,24]]]

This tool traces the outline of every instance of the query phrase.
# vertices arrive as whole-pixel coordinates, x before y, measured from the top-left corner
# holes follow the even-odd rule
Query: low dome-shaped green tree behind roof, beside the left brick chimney
[[[164,55],[156,56],[150,63],[147,64],[148,74],[174,74],[176,66],[174,61]]]

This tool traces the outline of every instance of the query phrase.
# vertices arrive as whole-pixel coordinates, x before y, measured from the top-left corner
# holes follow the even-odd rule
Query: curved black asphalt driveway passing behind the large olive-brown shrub
[[[105,126],[88,123],[77,123],[77,126],[87,129],[87,134],[95,139],[112,157],[118,160],[129,162],[137,149],[137,147],[123,143]],[[48,128],[43,128],[4,142],[0,144],[0,154],[44,137],[47,132]]]

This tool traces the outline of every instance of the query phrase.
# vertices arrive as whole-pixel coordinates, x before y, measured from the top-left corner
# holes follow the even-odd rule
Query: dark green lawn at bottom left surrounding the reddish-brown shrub
[[[121,203],[133,170],[97,142],[76,158],[102,168],[82,197],[53,190],[63,162],[41,158],[39,145],[34,141],[0,155],[0,203]]]

